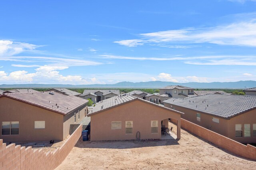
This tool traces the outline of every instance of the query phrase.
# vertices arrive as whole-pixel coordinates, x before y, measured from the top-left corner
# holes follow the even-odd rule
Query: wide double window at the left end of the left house
[[[19,134],[19,122],[2,122],[2,135]]]

